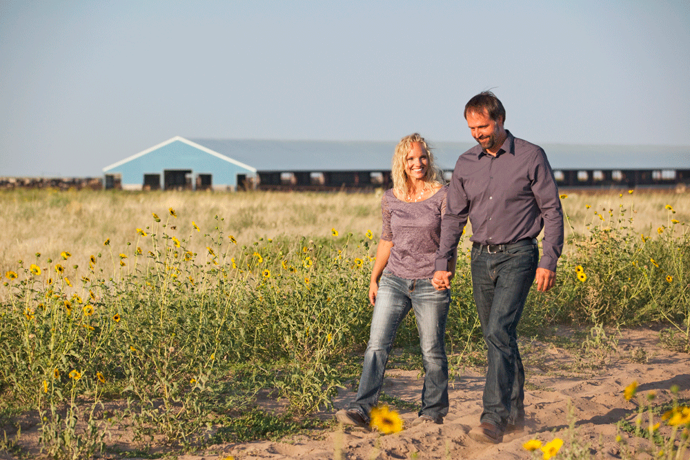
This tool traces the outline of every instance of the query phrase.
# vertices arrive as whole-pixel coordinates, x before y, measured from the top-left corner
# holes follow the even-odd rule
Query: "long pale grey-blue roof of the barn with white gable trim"
[[[294,141],[263,139],[192,139],[173,137],[103,168],[108,172],[153,150],[181,141],[235,166],[260,171],[391,170],[397,141]],[[438,166],[452,170],[457,157],[475,143],[433,142]],[[554,170],[690,168],[688,146],[587,146],[540,144]]]

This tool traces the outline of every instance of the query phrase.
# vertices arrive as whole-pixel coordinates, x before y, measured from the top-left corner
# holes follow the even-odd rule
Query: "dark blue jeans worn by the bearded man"
[[[481,422],[506,428],[524,421],[524,368],[517,350],[517,323],[534,281],[539,250],[527,244],[490,254],[472,248],[472,288],[489,369]]]

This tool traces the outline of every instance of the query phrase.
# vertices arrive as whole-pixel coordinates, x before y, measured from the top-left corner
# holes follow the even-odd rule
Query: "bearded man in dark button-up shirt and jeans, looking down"
[[[473,297],[489,349],[484,411],[469,436],[500,443],[505,432],[524,429],[524,369],[515,329],[535,278],[541,292],[553,286],[563,213],[544,150],[504,129],[506,112],[493,93],[470,99],[464,117],[479,146],[455,163],[432,283],[450,288],[448,263],[469,217]],[[542,228],[540,260],[536,237]]]

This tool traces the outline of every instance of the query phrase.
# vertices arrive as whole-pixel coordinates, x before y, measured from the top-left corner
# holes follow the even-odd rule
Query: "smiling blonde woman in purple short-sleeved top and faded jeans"
[[[405,315],[414,309],[424,360],[422,408],[413,424],[443,423],[448,413],[446,318],[449,290],[431,286],[446,210],[443,172],[420,134],[403,137],[393,154],[393,189],[381,200],[383,230],[371,272],[369,301],[374,306],[369,342],[357,397],[335,416],[346,425],[366,427],[379,398],[388,353]],[[449,264],[455,272],[455,259]]]

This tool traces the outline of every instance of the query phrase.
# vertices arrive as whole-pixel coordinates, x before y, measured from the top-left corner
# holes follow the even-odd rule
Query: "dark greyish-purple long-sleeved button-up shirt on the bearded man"
[[[457,159],[435,270],[448,270],[469,217],[470,241],[480,244],[536,238],[544,228],[539,267],[555,272],[563,250],[563,211],[553,171],[541,147],[506,134],[495,157],[477,145]]]

